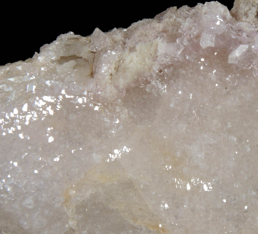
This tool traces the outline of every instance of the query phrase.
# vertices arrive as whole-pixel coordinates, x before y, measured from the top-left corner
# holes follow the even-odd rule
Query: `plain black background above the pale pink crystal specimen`
[[[171,6],[178,8],[184,5],[196,6],[205,1],[155,1],[155,3],[96,3],[88,1],[78,3],[56,2],[46,3],[10,3],[2,6],[0,65],[32,57],[40,47],[49,44],[62,33],[74,32],[82,36],[92,34],[98,27],[103,32],[113,28],[127,28],[133,22],[155,15]],[[220,1],[229,9],[233,7],[233,0]],[[13,6],[12,6],[13,5]]]

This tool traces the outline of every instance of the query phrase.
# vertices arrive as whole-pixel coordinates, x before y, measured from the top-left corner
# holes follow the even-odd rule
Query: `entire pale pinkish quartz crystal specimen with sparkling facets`
[[[257,2],[171,7],[0,67],[1,233],[257,233]]]

